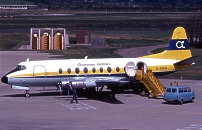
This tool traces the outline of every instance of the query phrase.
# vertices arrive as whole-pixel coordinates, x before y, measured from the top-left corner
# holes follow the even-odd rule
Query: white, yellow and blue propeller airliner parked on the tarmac
[[[110,90],[137,82],[136,70],[152,70],[154,75],[166,75],[194,64],[186,31],[177,27],[169,46],[157,54],[137,58],[102,59],[62,59],[25,61],[5,74],[1,81],[13,89],[25,90],[29,97],[29,87],[56,86],[60,92],[65,88],[95,88],[107,86]]]

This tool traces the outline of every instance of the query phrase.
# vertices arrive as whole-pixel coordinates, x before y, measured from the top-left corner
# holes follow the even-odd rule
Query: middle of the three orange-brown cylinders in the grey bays
[[[47,32],[45,32],[42,36],[41,36],[41,50],[49,50],[49,34]]]

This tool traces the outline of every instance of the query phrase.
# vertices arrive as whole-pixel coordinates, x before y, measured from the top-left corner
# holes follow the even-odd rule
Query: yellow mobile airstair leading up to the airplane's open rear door
[[[154,76],[151,70],[147,70],[146,73],[142,70],[136,70],[136,80],[140,80],[149,91],[149,97],[160,98],[164,96],[165,87]]]

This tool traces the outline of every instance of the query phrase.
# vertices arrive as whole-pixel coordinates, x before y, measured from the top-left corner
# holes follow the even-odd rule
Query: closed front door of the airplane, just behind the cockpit
[[[36,81],[43,81],[46,78],[46,68],[43,65],[36,65],[33,69],[33,76]]]

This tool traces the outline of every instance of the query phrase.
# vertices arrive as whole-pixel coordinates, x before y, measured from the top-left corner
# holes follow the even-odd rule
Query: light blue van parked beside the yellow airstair
[[[166,103],[178,102],[183,104],[183,102],[189,101],[193,103],[195,100],[195,93],[187,86],[170,86],[165,89],[164,100]]]

